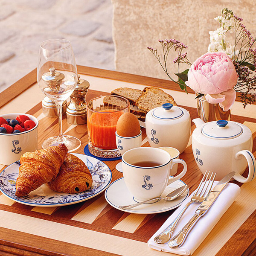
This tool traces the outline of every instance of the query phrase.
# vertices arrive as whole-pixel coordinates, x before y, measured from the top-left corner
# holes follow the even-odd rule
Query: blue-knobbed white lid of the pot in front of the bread
[[[165,103],[162,107],[155,108],[152,116],[157,119],[173,120],[183,116],[184,112],[181,108],[173,106],[171,103]]]

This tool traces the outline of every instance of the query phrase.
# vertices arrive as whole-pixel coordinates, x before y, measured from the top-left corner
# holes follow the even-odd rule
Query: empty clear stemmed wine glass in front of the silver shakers
[[[70,41],[49,39],[40,45],[37,69],[38,85],[57,107],[59,135],[49,137],[42,148],[64,143],[69,152],[80,147],[81,141],[62,132],[62,103],[73,93],[77,84],[76,61]]]

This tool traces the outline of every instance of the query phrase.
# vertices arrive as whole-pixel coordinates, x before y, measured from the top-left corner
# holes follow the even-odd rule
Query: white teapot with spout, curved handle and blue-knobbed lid
[[[216,172],[221,180],[229,172],[236,172],[234,179],[246,183],[256,176],[256,161],[251,150],[253,137],[246,125],[219,120],[204,123],[200,118],[192,120],[196,127],[192,134],[192,150],[200,171]],[[244,157],[243,157],[244,156]],[[242,177],[249,166],[248,177]]]

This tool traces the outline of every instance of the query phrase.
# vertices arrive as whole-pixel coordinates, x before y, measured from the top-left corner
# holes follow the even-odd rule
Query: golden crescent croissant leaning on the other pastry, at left
[[[66,154],[67,147],[64,144],[24,153],[20,157],[15,195],[28,195],[42,184],[55,179]]]

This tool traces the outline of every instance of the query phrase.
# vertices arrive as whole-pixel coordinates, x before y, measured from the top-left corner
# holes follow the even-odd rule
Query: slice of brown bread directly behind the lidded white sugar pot
[[[164,103],[172,103],[172,105],[177,106],[173,97],[163,90],[156,87],[145,87],[143,93],[135,101],[134,105],[148,112],[153,108],[162,106]]]

